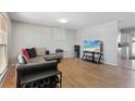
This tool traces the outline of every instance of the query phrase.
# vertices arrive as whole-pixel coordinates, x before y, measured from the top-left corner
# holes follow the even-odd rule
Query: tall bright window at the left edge
[[[0,75],[8,65],[8,23],[3,13],[0,13]]]

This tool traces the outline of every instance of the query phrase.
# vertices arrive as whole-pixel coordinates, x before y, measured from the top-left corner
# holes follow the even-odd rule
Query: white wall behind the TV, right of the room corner
[[[118,22],[110,22],[94,27],[77,30],[76,43],[81,45],[83,51],[83,40],[102,40],[105,63],[118,65]]]

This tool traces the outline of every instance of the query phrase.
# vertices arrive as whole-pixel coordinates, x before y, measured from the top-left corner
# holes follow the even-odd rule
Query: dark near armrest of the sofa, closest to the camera
[[[36,74],[40,72],[48,72],[48,71],[57,71],[58,70],[58,62],[57,61],[48,61],[44,63],[28,63],[24,65],[19,65],[16,67],[16,87],[21,87],[21,78],[22,76],[26,76],[29,74]]]

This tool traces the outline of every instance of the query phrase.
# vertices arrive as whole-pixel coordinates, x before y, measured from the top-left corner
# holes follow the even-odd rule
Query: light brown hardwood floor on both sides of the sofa
[[[12,67],[2,87],[15,87],[15,67]],[[135,87],[135,71],[94,64],[77,59],[65,59],[59,64],[62,87]]]

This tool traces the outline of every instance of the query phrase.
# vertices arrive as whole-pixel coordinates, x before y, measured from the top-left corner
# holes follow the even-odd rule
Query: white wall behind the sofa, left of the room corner
[[[64,56],[73,56],[73,46],[75,42],[75,30],[65,29],[63,40],[53,40],[52,29],[54,27],[36,25],[22,22],[13,22],[12,24],[12,63],[16,61],[16,55],[21,48],[26,47],[45,47],[54,52],[56,48],[62,48]],[[58,36],[61,37],[61,36]],[[56,47],[57,46],[57,47]]]

